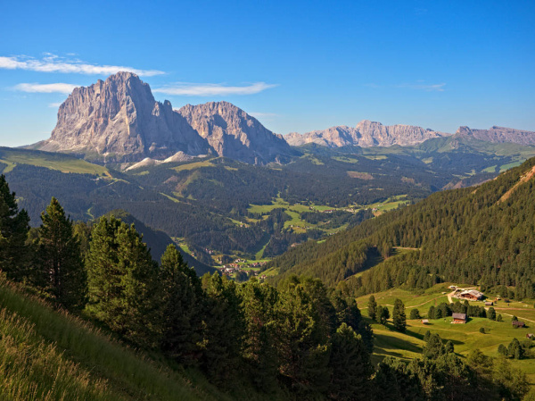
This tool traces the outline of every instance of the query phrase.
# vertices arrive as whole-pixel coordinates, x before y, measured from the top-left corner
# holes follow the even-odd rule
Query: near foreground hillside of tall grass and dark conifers
[[[465,361],[437,334],[407,364],[374,364],[355,297],[321,280],[199,278],[174,245],[155,262],[113,215],[86,229],[52,198],[29,230],[0,175],[0,397],[513,401],[529,391],[505,358],[474,350]],[[388,308],[380,315],[386,324]],[[400,299],[392,316],[404,332]]]

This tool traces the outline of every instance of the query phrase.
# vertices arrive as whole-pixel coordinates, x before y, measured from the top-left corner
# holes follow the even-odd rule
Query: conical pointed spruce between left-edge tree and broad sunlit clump
[[[38,230],[37,266],[45,289],[68,309],[82,308],[86,299],[86,271],[72,221],[53,197]]]

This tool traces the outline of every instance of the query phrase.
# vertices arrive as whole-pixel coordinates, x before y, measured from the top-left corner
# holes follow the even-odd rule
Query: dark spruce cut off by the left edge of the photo
[[[29,216],[19,211],[15,193],[5,176],[0,175],[0,271],[12,280],[28,276],[29,248],[25,242],[29,232]]]

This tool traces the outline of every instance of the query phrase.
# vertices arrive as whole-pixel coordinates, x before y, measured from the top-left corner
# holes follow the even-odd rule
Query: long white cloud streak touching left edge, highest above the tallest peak
[[[154,75],[161,75],[165,73],[158,70],[138,70],[136,68],[119,65],[89,64],[79,60],[64,59],[54,54],[45,54],[45,57],[41,60],[22,55],[16,55],[12,57],[0,56],[0,69],[77,73],[88,75],[111,75],[119,71],[130,71],[145,77],[152,77]]]

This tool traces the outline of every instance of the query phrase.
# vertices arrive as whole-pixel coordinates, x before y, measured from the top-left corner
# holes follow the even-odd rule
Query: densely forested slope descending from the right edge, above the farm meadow
[[[322,244],[299,246],[268,267],[282,273],[275,280],[299,272],[332,286],[342,282],[341,288],[360,295],[449,280],[514,287],[514,297],[533,297],[534,186],[535,159],[530,159],[481,187],[436,193]],[[350,277],[379,262],[372,260],[375,251],[384,262]]]

